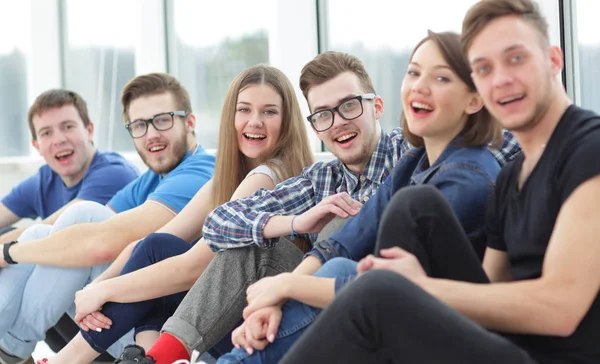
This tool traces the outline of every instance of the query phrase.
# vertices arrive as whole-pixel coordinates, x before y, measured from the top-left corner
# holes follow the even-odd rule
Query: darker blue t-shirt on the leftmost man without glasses
[[[14,187],[2,198],[2,203],[21,218],[45,219],[75,198],[104,205],[138,175],[139,170],[120,154],[97,150],[76,185],[66,187],[46,164]]]

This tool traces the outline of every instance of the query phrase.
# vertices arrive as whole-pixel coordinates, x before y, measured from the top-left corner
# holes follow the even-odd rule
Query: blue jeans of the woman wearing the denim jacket
[[[352,275],[356,275],[356,262],[346,258],[334,258],[315,273],[315,277],[322,278]],[[243,348],[233,349],[230,353],[220,357],[217,363],[277,363],[310,327],[321,311],[319,308],[289,300],[283,306],[281,323],[272,344],[267,345],[262,351],[255,351],[252,355],[248,355]]]

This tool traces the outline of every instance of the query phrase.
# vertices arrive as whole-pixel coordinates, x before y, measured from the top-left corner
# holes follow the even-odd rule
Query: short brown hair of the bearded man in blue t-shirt
[[[153,96],[170,92],[175,97],[179,110],[192,112],[190,95],[177,79],[166,73],[149,73],[133,78],[125,85],[121,93],[121,104],[123,105],[123,120],[129,121],[129,105],[133,100],[142,96]],[[175,110],[169,110],[175,111]]]

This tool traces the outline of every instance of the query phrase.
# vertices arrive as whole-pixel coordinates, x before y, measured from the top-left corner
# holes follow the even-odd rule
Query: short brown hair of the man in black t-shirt
[[[463,20],[461,37],[463,51],[467,53],[473,39],[492,20],[511,15],[522,18],[533,25],[539,32],[543,43],[550,43],[548,22],[536,2],[532,0],[481,0],[471,6]]]

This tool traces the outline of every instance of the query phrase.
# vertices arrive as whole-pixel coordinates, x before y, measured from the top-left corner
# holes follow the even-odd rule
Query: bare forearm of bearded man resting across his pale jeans
[[[20,242],[10,248],[17,263],[59,267],[90,267],[111,261],[127,244],[120,234],[99,223],[82,223],[43,239]]]

